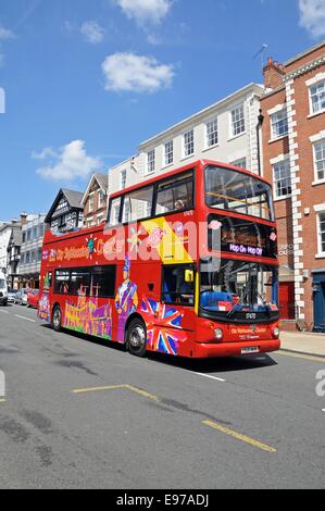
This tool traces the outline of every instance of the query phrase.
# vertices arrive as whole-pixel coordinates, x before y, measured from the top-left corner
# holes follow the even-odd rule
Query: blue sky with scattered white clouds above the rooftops
[[[323,39],[325,0],[0,0],[0,220]]]

